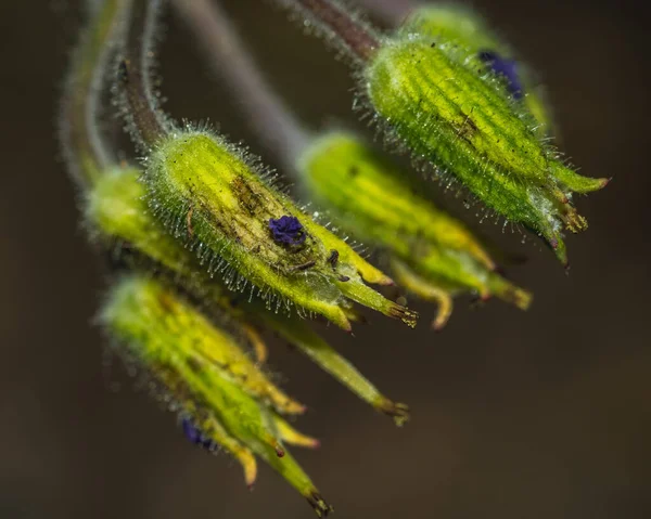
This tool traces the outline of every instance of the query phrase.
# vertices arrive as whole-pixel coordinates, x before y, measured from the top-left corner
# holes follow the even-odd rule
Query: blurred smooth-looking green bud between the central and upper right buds
[[[495,272],[495,263],[458,220],[405,184],[405,172],[353,134],[312,143],[298,168],[310,197],[333,211],[354,236],[384,249],[399,284],[439,302],[435,327],[451,311],[451,296],[495,295],[526,309],[531,296]]]

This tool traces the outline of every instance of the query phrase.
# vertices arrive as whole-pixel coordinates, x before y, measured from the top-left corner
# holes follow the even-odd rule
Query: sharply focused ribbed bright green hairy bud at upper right
[[[563,228],[587,226],[572,192],[599,190],[608,180],[567,168],[539,140],[533,117],[484,69],[474,52],[455,42],[406,31],[369,59],[362,81],[373,109],[414,157],[536,232],[566,263]]]

